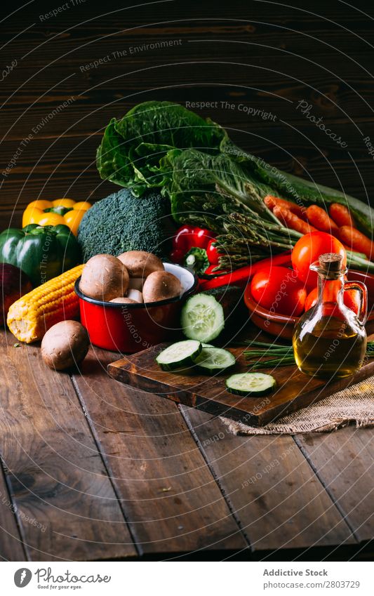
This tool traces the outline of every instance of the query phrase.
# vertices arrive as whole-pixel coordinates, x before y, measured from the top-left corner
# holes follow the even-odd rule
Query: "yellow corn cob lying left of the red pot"
[[[8,311],[8,327],[20,341],[41,340],[55,323],[79,315],[79,298],[74,283],[83,270],[78,265],[50,279],[13,303]]]

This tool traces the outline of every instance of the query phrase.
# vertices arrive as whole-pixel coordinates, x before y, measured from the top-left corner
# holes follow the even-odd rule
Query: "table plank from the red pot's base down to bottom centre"
[[[115,357],[91,350],[74,382],[136,542],[147,554],[246,548],[178,407],[110,379]]]

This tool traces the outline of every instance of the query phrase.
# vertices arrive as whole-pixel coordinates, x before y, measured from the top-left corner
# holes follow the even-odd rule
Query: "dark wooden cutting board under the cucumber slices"
[[[225,389],[228,373],[205,376],[161,371],[154,359],[167,345],[169,344],[162,343],[138,354],[123,357],[108,365],[108,373],[116,380],[143,391],[251,426],[263,426],[374,374],[374,358],[353,376],[332,380],[330,383],[300,373],[297,366],[263,369],[260,372],[272,374],[276,379],[275,392],[265,397],[239,397]],[[229,348],[237,359],[236,367],[231,369],[230,374],[249,370],[242,356],[244,349]]]

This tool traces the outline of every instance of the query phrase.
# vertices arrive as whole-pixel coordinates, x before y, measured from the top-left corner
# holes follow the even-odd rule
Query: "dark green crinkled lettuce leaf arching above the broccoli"
[[[101,178],[131,188],[140,197],[161,188],[170,173],[160,162],[175,148],[219,147],[224,132],[185,107],[168,101],[135,105],[121,120],[113,118],[96,156]]]

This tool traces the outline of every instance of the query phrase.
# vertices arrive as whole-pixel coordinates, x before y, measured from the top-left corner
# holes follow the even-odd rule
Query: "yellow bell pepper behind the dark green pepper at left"
[[[29,223],[38,225],[67,225],[74,236],[78,233],[81,218],[91,207],[88,201],[73,201],[72,199],[55,199],[45,201],[38,199],[27,205],[22,216],[22,227]]]

